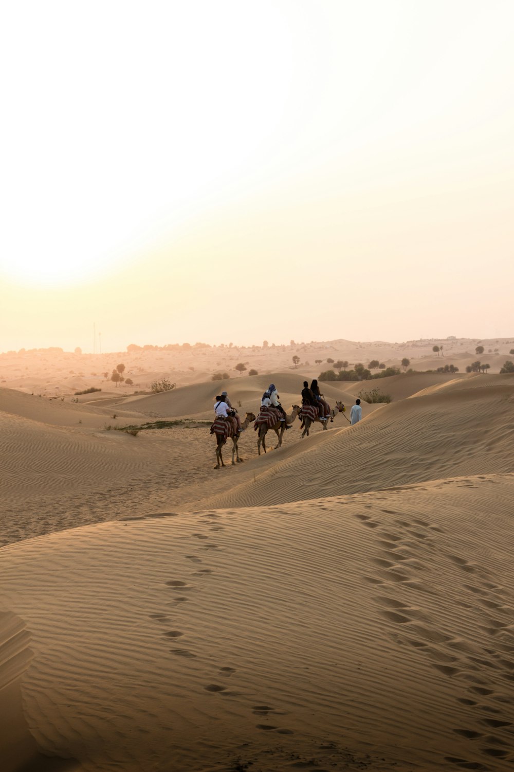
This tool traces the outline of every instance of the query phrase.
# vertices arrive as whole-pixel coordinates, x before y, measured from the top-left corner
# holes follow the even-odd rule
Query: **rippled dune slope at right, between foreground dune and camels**
[[[356,426],[325,432],[315,452],[304,440],[256,479],[203,503],[260,506],[512,472],[513,385],[510,376],[478,377],[383,405]]]

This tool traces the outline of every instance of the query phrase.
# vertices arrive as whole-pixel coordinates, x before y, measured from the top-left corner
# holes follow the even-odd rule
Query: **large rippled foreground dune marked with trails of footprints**
[[[455,479],[6,547],[29,730],[83,770],[509,769],[513,491]]]

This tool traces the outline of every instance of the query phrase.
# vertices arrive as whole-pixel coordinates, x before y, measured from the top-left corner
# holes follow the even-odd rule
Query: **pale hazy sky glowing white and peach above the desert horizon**
[[[514,336],[513,23],[3,5],[0,350]]]

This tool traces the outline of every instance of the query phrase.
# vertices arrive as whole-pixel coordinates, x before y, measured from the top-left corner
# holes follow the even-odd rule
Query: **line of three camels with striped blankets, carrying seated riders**
[[[270,430],[277,435],[277,445],[275,450],[282,445],[282,438],[287,429],[291,428],[295,418],[301,419],[300,428],[302,432],[302,438],[305,435],[309,435],[309,428],[313,423],[321,423],[323,425],[323,431],[327,428],[328,422],[333,422],[336,415],[346,411],[343,403],[337,401],[335,409],[332,409],[328,402],[324,400],[323,394],[321,394],[317,381],[312,381],[311,386],[307,381],[304,381],[304,388],[301,392],[301,406],[293,405],[290,415],[287,415],[286,411],[281,405],[280,398],[277,394],[277,388],[275,384],[270,384],[260,400],[259,415],[247,412],[246,418],[241,422],[237,410],[230,404],[227,391],[222,391],[217,396],[214,403],[214,413],[216,418],[210,427],[210,433],[216,435],[216,460],[217,465],[214,469],[220,469],[225,466],[223,463],[222,449],[223,445],[230,438],[232,440],[232,463],[240,463],[243,459],[240,458],[237,449],[237,442],[239,441],[241,432],[254,422],[254,430],[257,432],[257,451],[260,455],[260,448],[266,452],[266,435]]]

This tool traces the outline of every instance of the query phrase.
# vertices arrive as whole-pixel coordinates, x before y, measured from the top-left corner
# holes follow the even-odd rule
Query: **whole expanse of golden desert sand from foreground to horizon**
[[[353,427],[363,384],[323,384],[327,431],[259,457],[248,428],[214,471],[216,394],[289,409],[320,368],[260,350],[213,383],[161,354],[133,354],[161,394],[2,384],[2,770],[511,769],[514,376],[372,381],[391,404]]]

